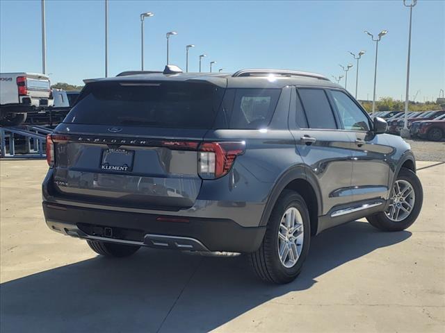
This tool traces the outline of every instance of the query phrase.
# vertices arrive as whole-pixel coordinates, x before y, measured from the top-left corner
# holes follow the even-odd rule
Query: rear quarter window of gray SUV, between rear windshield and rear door
[[[281,89],[236,89],[229,128],[258,129],[268,126],[280,92]]]

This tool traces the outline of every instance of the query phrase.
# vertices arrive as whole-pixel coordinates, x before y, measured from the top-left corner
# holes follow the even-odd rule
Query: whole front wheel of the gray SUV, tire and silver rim
[[[423,189],[416,173],[402,168],[391,189],[389,207],[366,219],[383,231],[401,231],[410,227],[419,216],[423,203]]]

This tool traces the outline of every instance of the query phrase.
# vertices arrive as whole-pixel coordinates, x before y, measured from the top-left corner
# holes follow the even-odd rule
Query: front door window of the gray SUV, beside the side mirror
[[[339,90],[331,90],[331,94],[345,130],[370,130],[368,117],[348,95]]]

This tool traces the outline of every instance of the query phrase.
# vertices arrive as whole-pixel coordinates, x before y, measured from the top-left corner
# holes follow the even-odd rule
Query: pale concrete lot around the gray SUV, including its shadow
[[[327,230],[300,277],[273,286],[244,257],[97,257],[45,225],[45,161],[0,161],[0,331],[444,332],[445,162],[417,167],[425,198],[411,228]]]

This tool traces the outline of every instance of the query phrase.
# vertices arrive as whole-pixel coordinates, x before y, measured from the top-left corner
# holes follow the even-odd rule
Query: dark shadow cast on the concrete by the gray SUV
[[[300,276],[282,286],[257,280],[245,256],[144,249],[127,259],[96,257],[1,284],[0,331],[208,332],[410,236],[360,221],[326,230],[312,239]]]

